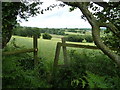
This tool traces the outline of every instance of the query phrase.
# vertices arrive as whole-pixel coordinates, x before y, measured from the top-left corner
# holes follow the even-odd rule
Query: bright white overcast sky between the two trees
[[[44,0],[42,7],[49,6],[53,3],[60,3],[55,0]],[[22,20],[21,26],[39,27],[39,28],[91,28],[89,23],[81,19],[81,11],[75,9],[69,12],[67,5],[61,8],[54,8],[52,11],[46,11],[35,17],[30,17],[28,21]]]

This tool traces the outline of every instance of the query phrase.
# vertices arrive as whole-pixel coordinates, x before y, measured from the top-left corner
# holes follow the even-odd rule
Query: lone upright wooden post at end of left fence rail
[[[34,66],[36,66],[38,64],[38,42],[36,36],[33,36],[33,48],[34,48]]]

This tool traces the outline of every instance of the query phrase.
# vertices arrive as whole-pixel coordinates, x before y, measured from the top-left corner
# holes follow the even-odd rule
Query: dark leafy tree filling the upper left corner
[[[2,2],[2,48],[9,42],[17,24],[17,16],[27,21],[30,16],[40,13],[38,5],[42,2]]]

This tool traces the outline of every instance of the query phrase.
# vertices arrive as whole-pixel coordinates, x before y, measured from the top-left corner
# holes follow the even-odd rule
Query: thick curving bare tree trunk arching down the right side
[[[82,13],[85,15],[88,22],[92,26],[92,36],[93,36],[93,39],[94,39],[96,46],[99,49],[101,49],[103,51],[103,53],[106,54],[109,58],[111,58],[113,61],[115,61],[117,63],[117,65],[120,67],[120,56],[115,54],[112,50],[110,50],[102,42],[102,40],[100,38],[100,26],[101,26],[101,24],[97,21],[97,19],[93,16],[93,14],[88,10],[88,6],[87,6],[88,2],[87,3],[86,2],[76,2],[76,3],[75,2],[74,3],[65,2],[65,4],[70,5],[70,6],[74,6],[74,7],[78,7],[82,11]],[[110,29],[112,29],[111,27],[114,27],[114,26],[109,25]],[[115,30],[113,30],[113,31],[115,31]]]

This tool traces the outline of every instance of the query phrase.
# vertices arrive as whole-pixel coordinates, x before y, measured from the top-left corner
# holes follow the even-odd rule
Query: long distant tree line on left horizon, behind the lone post
[[[41,33],[49,33],[56,35],[65,35],[65,31],[61,29],[54,28],[36,28],[36,27],[21,27],[17,26],[13,30],[13,35],[23,36],[23,37],[32,37],[33,35],[37,35],[38,38],[41,36]]]

